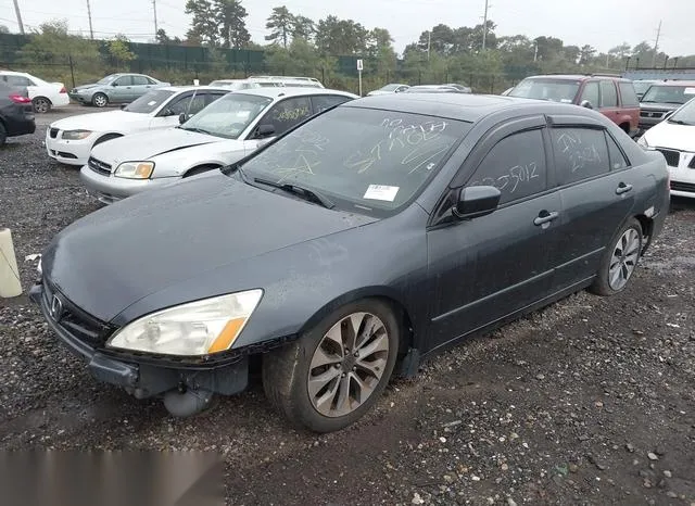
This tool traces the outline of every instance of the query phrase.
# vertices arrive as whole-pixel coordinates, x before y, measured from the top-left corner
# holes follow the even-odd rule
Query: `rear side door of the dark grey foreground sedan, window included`
[[[630,215],[636,185],[612,136],[590,118],[554,116],[549,130],[563,203],[557,288],[594,276],[612,236]]]

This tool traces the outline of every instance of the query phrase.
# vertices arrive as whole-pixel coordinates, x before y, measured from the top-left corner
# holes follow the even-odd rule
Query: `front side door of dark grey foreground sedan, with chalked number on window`
[[[432,347],[548,295],[560,200],[553,190],[544,116],[506,123],[483,138],[452,182],[494,186],[498,208],[427,233]]]

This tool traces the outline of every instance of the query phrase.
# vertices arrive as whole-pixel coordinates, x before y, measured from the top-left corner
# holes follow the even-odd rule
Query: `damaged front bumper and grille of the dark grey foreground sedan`
[[[87,360],[94,379],[122,387],[138,399],[188,390],[232,395],[248,385],[249,353],[235,352],[213,360],[115,352],[105,347],[115,328],[85,314],[49,283],[34,284],[29,298],[59,339]]]

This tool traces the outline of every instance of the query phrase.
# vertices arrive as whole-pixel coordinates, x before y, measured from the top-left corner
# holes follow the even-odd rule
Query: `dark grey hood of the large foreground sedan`
[[[41,263],[65,298],[110,321],[172,284],[232,263],[243,269],[250,258],[375,220],[217,172],[85,216],[51,241]],[[229,291],[240,288],[229,280]]]

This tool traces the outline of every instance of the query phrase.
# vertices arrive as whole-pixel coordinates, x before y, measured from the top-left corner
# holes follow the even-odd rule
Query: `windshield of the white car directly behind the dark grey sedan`
[[[181,125],[185,130],[198,130],[225,139],[238,139],[273,99],[245,93],[226,94]]]

